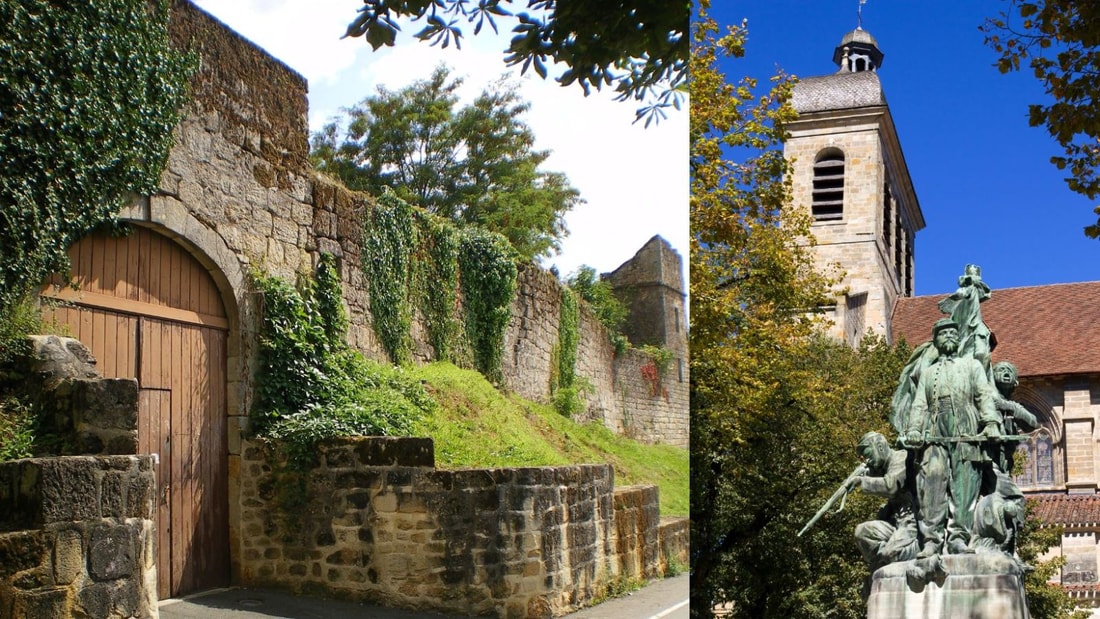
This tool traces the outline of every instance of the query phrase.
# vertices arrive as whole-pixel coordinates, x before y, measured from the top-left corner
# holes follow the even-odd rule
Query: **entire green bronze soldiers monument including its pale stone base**
[[[1027,567],[1015,555],[1024,497],[1011,467],[1027,439],[1019,432],[1038,422],[1011,399],[1015,367],[991,362],[997,339],[980,308],[990,297],[981,269],[967,265],[938,306],[949,316],[899,377],[890,411],[898,445],[865,434],[864,464],[799,533],[856,488],[886,499],[855,530],[870,566],[869,619],[1028,616]]]

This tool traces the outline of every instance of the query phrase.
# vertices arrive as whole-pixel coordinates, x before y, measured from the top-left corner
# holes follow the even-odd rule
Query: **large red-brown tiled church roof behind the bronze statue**
[[[894,340],[930,340],[946,296],[898,299]],[[981,316],[997,339],[993,363],[1011,361],[1021,376],[1100,373],[1100,281],[994,287]]]

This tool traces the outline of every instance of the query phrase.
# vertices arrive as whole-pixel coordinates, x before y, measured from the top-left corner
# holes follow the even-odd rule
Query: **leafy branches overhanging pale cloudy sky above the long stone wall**
[[[394,45],[403,18],[425,22],[417,38],[447,47],[461,46],[463,21],[477,35],[485,25],[498,32],[498,18],[515,16],[507,65],[524,73],[534,67],[546,78],[548,62],[562,63],[568,68],[556,78],[562,86],[578,84],[588,95],[614,85],[618,100],[656,100],[638,110],[646,124],[669,107],[679,109],[688,80],[690,1],[363,0],[359,13],[344,36],[362,36],[374,49]]]

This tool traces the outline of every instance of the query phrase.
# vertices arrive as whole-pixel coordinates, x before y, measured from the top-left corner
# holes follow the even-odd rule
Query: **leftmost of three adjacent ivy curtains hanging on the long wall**
[[[413,350],[409,288],[417,236],[413,208],[387,190],[369,211],[363,229],[363,273],[374,332],[394,363],[407,363]]]

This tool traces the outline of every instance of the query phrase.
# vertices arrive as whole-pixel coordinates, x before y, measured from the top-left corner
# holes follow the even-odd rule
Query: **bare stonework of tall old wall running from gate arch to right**
[[[308,163],[307,85],[301,76],[186,1],[175,4],[174,41],[202,57],[193,99],[176,132],[160,192],[122,213],[124,219],[176,239],[204,265],[221,289],[230,314],[230,453],[246,425],[254,376],[257,301],[248,272],[262,267],[294,279],[310,272],[320,252],[338,257],[344,284],[349,342],[386,360],[375,335],[367,284],[360,267],[362,212],[374,199],[348,191],[316,174]],[[534,266],[520,267],[504,351],[505,385],[525,397],[548,401],[551,362],[558,342],[560,284]],[[414,357],[433,360],[414,321]],[[587,418],[620,429],[625,418],[680,416],[688,400],[670,391],[660,410],[634,410],[629,385],[619,384],[615,355],[603,327],[584,312],[578,374],[593,385]],[[645,398],[640,398],[645,399]],[[639,427],[660,427],[640,423]],[[686,433],[638,433],[636,438],[686,446]]]

